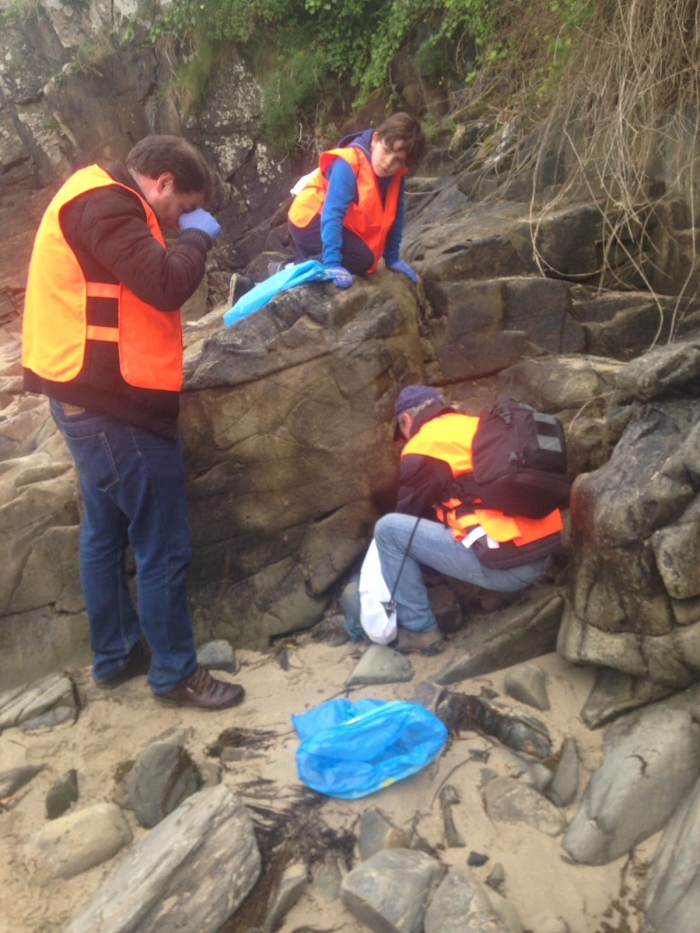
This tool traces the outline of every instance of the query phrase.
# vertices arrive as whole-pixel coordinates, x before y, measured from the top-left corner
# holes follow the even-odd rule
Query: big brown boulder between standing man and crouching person
[[[393,496],[389,422],[397,387],[421,377],[418,308],[401,276],[373,279],[192,328],[182,429],[200,632],[255,644],[315,621]]]

